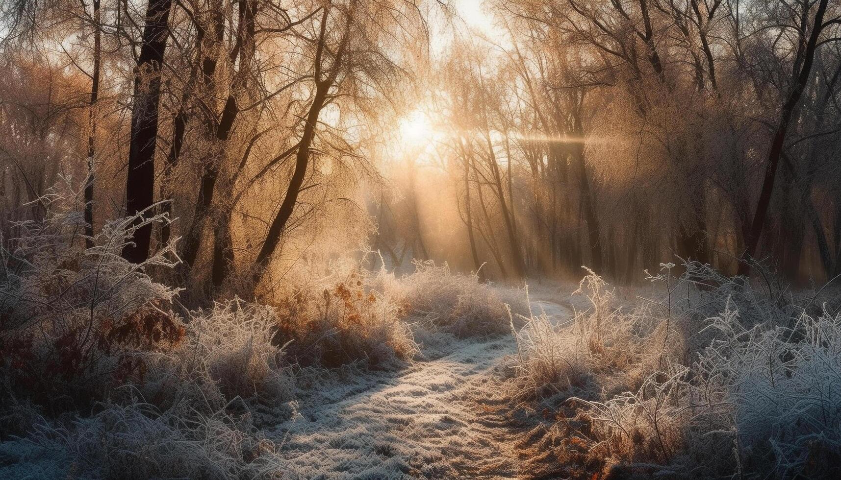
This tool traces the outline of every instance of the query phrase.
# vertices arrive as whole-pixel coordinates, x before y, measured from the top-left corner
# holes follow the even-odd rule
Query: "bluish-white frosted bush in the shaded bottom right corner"
[[[700,355],[722,383],[740,467],[777,478],[831,477],[841,461],[841,314],[799,315],[788,328],[746,328],[733,306],[707,327],[721,336]]]

